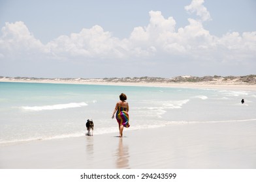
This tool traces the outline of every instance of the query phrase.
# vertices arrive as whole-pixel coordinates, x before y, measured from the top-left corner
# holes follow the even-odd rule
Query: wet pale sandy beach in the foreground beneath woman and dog
[[[183,123],[4,146],[0,168],[256,168],[256,123]]]

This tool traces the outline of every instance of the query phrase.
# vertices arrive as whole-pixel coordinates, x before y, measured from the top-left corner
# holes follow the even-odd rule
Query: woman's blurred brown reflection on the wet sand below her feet
[[[118,149],[116,150],[116,168],[130,168],[129,146],[123,145],[123,138],[119,138]]]

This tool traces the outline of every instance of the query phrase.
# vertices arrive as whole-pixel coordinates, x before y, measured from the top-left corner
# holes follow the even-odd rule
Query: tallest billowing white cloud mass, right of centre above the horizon
[[[202,22],[191,18],[188,21],[189,25],[176,31],[176,21],[172,17],[165,19],[161,12],[151,11],[148,26],[135,27],[129,41],[133,47],[138,46],[144,51],[155,47],[153,55],[193,55],[195,51],[216,45],[215,37],[204,29]]]

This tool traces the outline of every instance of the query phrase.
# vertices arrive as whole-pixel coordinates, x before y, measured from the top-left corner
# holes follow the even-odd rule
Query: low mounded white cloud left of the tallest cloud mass
[[[99,25],[70,36],[59,36],[46,47],[60,57],[123,57],[121,41]]]

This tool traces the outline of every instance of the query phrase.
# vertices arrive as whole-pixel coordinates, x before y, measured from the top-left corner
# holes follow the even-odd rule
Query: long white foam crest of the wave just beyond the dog
[[[24,110],[33,110],[33,111],[39,111],[39,110],[56,110],[56,109],[69,109],[69,108],[75,108],[75,107],[83,107],[88,105],[87,103],[81,102],[81,103],[65,103],[65,104],[56,104],[56,105],[42,105],[42,106],[22,106],[21,108]]]

